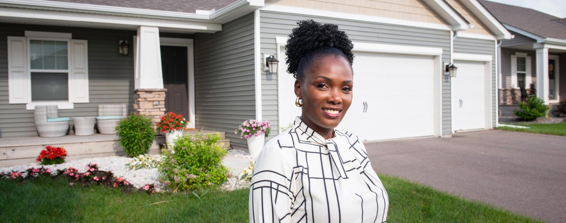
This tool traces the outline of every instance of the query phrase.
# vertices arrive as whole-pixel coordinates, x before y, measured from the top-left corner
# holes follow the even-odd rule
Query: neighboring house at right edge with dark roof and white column
[[[502,40],[499,47],[501,115],[512,115],[521,101],[520,86],[546,104],[566,100],[566,19],[530,8],[481,2],[514,36]]]

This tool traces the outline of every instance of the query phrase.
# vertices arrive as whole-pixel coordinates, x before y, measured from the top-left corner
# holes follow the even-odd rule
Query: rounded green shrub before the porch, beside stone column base
[[[155,137],[151,119],[143,115],[128,115],[120,120],[116,132],[120,146],[130,157],[147,154]]]

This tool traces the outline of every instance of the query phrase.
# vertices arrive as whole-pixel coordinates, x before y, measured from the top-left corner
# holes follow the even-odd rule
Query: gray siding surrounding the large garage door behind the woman
[[[426,28],[404,27],[400,25],[369,23],[347,19],[320,18],[297,14],[261,11],[260,13],[261,53],[277,55],[276,37],[286,37],[291,29],[297,27],[298,20],[314,19],[320,23],[337,24],[353,42],[381,43],[438,47],[443,49],[442,62],[450,61],[450,32]],[[355,58],[354,58],[355,63]],[[284,65],[284,63],[281,63]],[[439,74],[440,75],[440,74]],[[450,78],[442,78],[442,132],[452,134]],[[277,77],[262,75],[263,119],[269,120],[278,129],[277,123]],[[273,134],[275,135],[275,134]],[[271,137],[270,137],[271,138]]]

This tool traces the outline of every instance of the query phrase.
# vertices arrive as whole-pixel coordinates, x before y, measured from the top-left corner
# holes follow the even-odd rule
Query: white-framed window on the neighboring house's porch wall
[[[511,88],[518,89],[521,86],[530,88],[531,82],[531,57],[526,53],[515,53],[511,55]]]

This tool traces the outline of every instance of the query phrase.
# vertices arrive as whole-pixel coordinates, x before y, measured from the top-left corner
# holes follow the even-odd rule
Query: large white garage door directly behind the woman
[[[354,99],[338,128],[367,141],[434,135],[434,65],[433,56],[355,53]],[[294,79],[281,67],[283,126],[301,110],[293,105]]]

